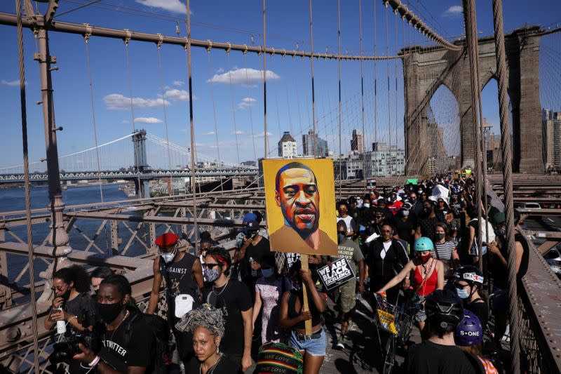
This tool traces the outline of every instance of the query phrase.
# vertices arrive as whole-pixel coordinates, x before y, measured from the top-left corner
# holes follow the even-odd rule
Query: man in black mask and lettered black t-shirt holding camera
[[[133,321],[133,317],[141,312],[127,307],[131,293],[130,284],[122,275],[110,276],[100,284],[97,307],[103,321],[102,347],[96,355],[89,347],[80,344],[82,352],[74,359],[81,361],[83,366],[103,374],[142,374],[154,368],[154,333],[144,319]]]

